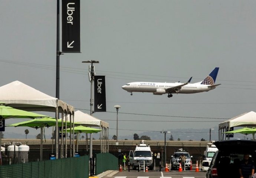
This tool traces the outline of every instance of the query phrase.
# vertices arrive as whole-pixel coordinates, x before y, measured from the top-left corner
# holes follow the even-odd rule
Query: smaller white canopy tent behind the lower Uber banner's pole
[[[75,119],[76,125],[80,124],[88,127],[99,127],[102,129],[100,132],[100,140],[101,140],[101,152],[109,152],[108,145],[108,128],[109,124],[107,122],[101,121],[87,113],[83,113],[81,111],[75,111]]]

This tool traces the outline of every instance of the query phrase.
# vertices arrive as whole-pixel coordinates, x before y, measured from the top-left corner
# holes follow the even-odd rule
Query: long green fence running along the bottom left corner
[[[3,165],[0,178],[89,178],[89,156]]]

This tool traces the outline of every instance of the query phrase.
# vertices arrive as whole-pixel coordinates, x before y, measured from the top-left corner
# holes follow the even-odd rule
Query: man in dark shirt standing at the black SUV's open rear
[[[254,174],[254,165],[249,154],[244,154],[244,159],[239,167],[240,178],[249,178]]]

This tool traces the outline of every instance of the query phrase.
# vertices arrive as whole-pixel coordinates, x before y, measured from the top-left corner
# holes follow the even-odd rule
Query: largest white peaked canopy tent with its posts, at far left
[[[36,90],[20,81],[14,81],[7,85],[3,85],[0,87],[0,101],[5,103],[7,106],[11,106],[13,108],[22,109],[25,111],[47,111],[47,112],[55,112],[55,118],[59,118],[59,113],[62,113],[62,118],[64,118],[64,114],[67,116],[70,115],[70,122],[73,116],[74,119],[74,107],[68,105],[67,103],[59,100],[58,98],[54,98],[49,96],[39,90]],[[56,121],[56,126],[58,126],[58,122]],[[62,125],[63,127],[63,125]],[[55,152],[56,158],[58,158],[58,129],[55,131],[57,134],[55,137]],[[73,139],[74,145],[74,139]],[[70,140],[70,156],[72,144]],[[74,147],[73,147],[74,152]],[[61,139],[61,154],[63,154],[63,137]],[[67,155],[67,151],[65,153]],[[73,153],[74,155],[74,153]],[[61,155],[62,157],[62,155]]]

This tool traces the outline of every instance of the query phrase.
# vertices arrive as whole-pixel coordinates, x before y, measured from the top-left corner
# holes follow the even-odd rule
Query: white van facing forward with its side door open
[[[145,144],[145,140],[141,141],[140,145],[136,145],[135,150],[129,152],[129,162],[133,170],[140,167],[148,167],[153,170],[153,156],[150,145]]]

